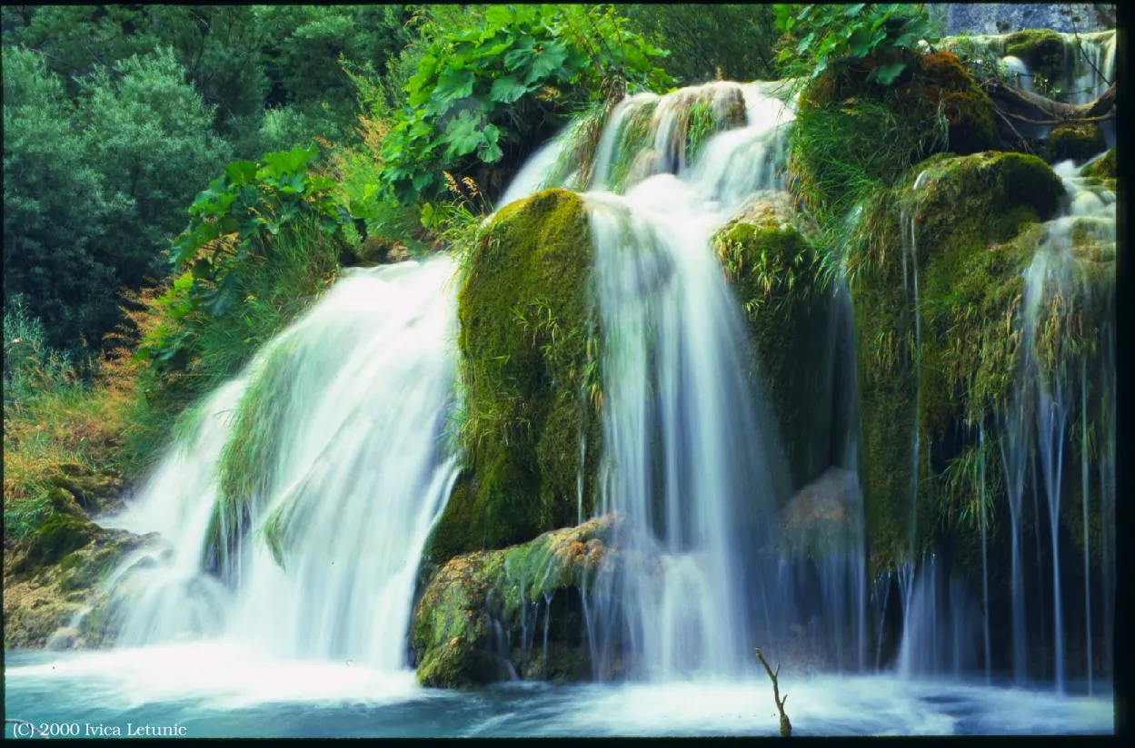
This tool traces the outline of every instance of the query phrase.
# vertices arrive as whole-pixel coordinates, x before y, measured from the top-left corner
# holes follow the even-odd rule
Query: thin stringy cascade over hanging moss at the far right
[[[1101,272],[1096,267],[1108,267],[1113,257],[1115,204],[1113,195],[1099,188],[1086,188],[1076,176],[1071,162],[1058,164],[1057,173],[1065,181],[1068,206],[1065,214],[1044,227],[1044,236],[1036,248],[1033,262],[1024,277],[1022,299],[1022,358],[1018,369],[1018,386],[1010,410],[1002,419],[1002,460],[1006,466],[1009,491],[1010,521],[1014,538],[1014,652],[1015,677],[1024,678],[1023,651],[1026,646],[1024,629],[1025,580],[1018,573],[1019,534],[1022,529],[1022,498],[1025,491],[1025,474],[1032,462],[1033,526],[1037,542],[1037,575],[1051,575],[1051,598],[1040,585],[1036,617],[1041,630],[1041,645],[1053,652],[1056,689],[1063,692],[1067,681],[1066,668],[1066,621],[1063,590],[1061,589],[1061,499],[1066,490],[1063,479],[1065,448],[1070,443],[1071,425],[1078,415],[1081,436],[1081,488],[1082,518],[1084,521],[1084,601],[1086,652],[1092,651],[1092,584],[1087,537],[1091,484],[1088,482],[1087,442],[1088,417],[1091,413],[1107,411],[1107,394],[1099,405],[1090,401],[1087,356],[1071,348],[1074,333],[1062,330],[1063,325],[1079,324],[1088,331],[1098,326],[1101,347],[1107,350],[1110,326],[1100,317],[1088,314],[1105,314],[1109,304],[1100,304],[1099,291],[1093,288],[1088,273]],[[1110,270],[1103,272],[1111,272]],[[1099,278],[1099,277],[1098,277]],[[1103,288],[1110,288],[1103,277]],[[1098,281],[1099,282],[1099,281]],[[1104,291],[1107,292],[1107,291]],[[1077,332],[1075,335],[1083,335]],[[1077,362],[1078,359],[1078,362]],[[1078,365],[1076,365],[1078,364]],[[1110,365],[1110,362],[1108,362]],[[1078,375],[1078,388],[1076,377]],[[1110,369],[1104,367],[1104,377]],[[1078,389],[1078,392],[1077,392]],[[1076,413],[1078,407],[1079,413]],[[1105,448],[1107,449],[1107,448]],[[1102,461],[1101,461],[1102,462]],[[1107,491],[1104,487],[1103,491]],[[1043,492],[1043,504],[1041,494]],[[1046,510],[1049,528],[1048,553],[1041,549],[1041,507]],[[1107,516],[1107,515],[1105,515]],[[1105,524],[1110,524],[1107,522]],[[1107,575],[1107,572],[1104,572]],[[1050,618],[1051,615],[1051,618]],[[1051,640],[1046,632],[1051,631]],[[1088,654],[1088,658],[1091,654]],[[1093,665],[1086,665],[1090,682],[1094,678]]]

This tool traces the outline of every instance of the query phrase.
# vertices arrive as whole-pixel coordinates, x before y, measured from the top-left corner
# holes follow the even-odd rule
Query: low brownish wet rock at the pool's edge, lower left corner
[[[110,590],[100,583],[154,535],[104,529],[73,516],[68,528],[83,544],[42,563],[28,550],[5,550],[3,644],[6,649],[99,647],[114,638],[106,613]]]

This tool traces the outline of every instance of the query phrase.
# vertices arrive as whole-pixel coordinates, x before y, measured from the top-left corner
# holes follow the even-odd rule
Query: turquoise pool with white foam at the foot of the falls
[[[767,680],[419,688],[351,662],[254,660],[220,645],[5,654],[5,714],[79,736],[774,736]],[[1073,685],[1074,687],[1075,685]],[[1108,695],[891,674],[781,678],[796,736],[1108,734]],[[57,725],[57,726],[51,726]],[[99,726],[101,725],[101,728]],[[14,737],[15,725],[6,725]]]

